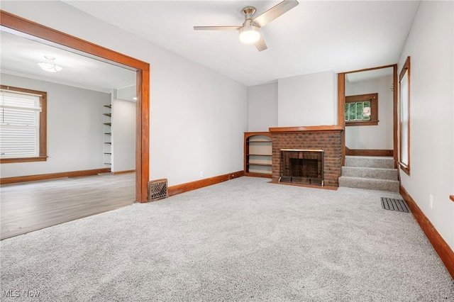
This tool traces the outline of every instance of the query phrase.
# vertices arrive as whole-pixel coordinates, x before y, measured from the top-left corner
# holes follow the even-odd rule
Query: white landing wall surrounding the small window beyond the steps
[[[345,96],[378,93],[378,125],[345,127],[350,149],[393,150],[392,76],[361,82],[345,82]]]

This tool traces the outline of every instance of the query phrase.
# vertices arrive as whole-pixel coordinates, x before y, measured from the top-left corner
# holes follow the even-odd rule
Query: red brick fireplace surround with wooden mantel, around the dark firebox
[[[338,125],[270,128],[272,181],[279,181],[284,176],[281,167],[282,150],[323,150],[323,164],[321,165],[323,171],[319,171],[319,174],[323,175],[321,184],[337,188],[339,186],[338,178],[341,177],[342,130],[342,127]],[[284,177],[282,180],[289,182],[288,177]],[[305,184],[306,182],[300,183]]]

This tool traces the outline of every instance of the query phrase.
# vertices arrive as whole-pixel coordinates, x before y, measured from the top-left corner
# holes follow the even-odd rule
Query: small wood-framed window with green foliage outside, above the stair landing
[[[345,125],[378,125],[378,94],[345,96]]]

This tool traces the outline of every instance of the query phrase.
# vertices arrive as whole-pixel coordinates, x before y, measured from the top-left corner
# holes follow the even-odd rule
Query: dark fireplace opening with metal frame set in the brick
[[[280,151],[279,182],[323,186],[323,150]]]

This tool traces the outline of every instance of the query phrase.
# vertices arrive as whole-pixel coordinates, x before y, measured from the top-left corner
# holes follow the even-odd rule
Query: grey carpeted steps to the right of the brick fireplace
[[[399,192],[392,157],[345,156],[339,186]]]

